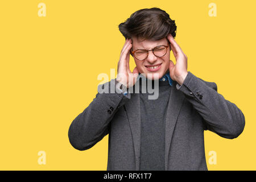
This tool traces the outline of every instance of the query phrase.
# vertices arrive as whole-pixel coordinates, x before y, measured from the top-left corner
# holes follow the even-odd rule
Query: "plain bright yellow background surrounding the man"
[[[38,4],[46,4],[46,17]],[[210,17],[209,3],[217,17]],[[177,25],[188,71],[216,82],[246,126],[237,139],[205,131],[209,170],[255,170],[255,1],[1,1],[1,170],[106,170],[108,136],[86,151],[68,140],[71,122],[115,68],[125,39],[118,24],[159,7]],[[172,60],[174,56],[172,55]],[[135,67],[130,59],[130,68]],[[46,165],[38,152],[46,151]],[[208,163],[209,151],[217,164]]]

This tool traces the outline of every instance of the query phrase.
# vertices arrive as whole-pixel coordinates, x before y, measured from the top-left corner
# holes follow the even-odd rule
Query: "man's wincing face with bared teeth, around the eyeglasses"
[[[148,56],[145,60],[138,60],[134,57],[135,64],[137,66],[137,69],[139,73],[145,73],[146,77],[150,80],[155,80],[158,75],[158,79],[163,77],[168,69],[169,69],[169,63],[170,63],[170,45],[168,43],[168,40],[166,38],[163,38],[161,40],[143,40],[139,41],[141,39],[137,39],[135,36],[131,38],[132,40],[132,51],[136,51],[137,49],[146,49],[151,50],[157,46],[168,46],[167,53],[163,57],[157,57],[154,55],[152,51],[148,52]],[[158,68],[151,69],[154,65],[159,66]],[[149,68],[151,67],[151,68]],[[148,74],[151,73],[151,74]]]

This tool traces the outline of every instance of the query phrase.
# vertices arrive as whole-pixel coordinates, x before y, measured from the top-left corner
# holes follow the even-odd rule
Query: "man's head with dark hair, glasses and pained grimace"
[[[171,34],[175,38],[176,28],[175,20],[170,19],[166,11],[156,7],[138,10],[119,24],[122,35],[132,40],[131,55],[139,73],[146,73],[147,78],[154,80],[155,73],[160,78],[168,72],[171,47],[167,35]],[[149,51],[152,49],[154,52]],[[151,69],[159,64],[159,68]]]

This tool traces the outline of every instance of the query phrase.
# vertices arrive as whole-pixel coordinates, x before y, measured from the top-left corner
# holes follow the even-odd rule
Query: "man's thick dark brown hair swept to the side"
[[[168,34],[175,38],[177,28],[175,20],[172,20],[166,11],[158,7],[135,11],[118,27],[125,39],[136,36],[149,40],[160,40]]]

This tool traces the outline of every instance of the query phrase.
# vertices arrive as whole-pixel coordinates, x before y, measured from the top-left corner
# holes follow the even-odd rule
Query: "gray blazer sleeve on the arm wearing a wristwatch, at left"
[[[93,101],[71,123],[68,130],[68,138],[71,145],[77,150],[87,150],[99,142],[109,133],[110,121],[119,107],[130,99],[130,93],[124,96],[122,93],[111,91],[116,82],[112,79],[98,86],[98,93]],[[109,92],[99,92],[108,87]],[[111,91],[111,92],[110,92]]]

